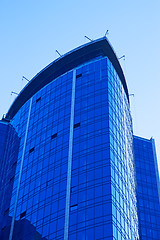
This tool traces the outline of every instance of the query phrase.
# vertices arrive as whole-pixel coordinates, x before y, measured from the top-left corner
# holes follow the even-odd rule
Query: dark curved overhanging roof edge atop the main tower
[[[27,102],[37,91],[53,81],[53,79],[98,56],[107,56],[109,58],[123,84],[129,101],[127,84],[120,63],[111,44],[106,37],[103,37],[73,49],[42,69],[22,89],[12,103],[5,118],[11,120],[25,102]]]

